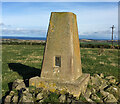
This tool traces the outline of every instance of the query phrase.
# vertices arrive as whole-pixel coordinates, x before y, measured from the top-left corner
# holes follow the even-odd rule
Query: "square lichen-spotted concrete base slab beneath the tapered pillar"
[[[69,92],[75,97],[79,97],[81,93],[85,93],[89,78],[89,74],[82,74],[81,77],[72,82],[33,77],[29,80],[29,86],[43,88],[51,92],[55,92],[57,89],[59,89],[61,93]]]

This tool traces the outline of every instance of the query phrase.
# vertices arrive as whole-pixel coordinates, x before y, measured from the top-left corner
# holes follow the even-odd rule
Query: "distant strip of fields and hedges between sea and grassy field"
[[[20,39],[2,39],[3,45],[45,45],[45,40],[20,40]],[[87,40],[81,39],[80,46],[82,48],[111,48],[112,42],[111,40]],[[118,45],[118,41],[113,41],[113,46],[115,49],[119,49],[120,45]]]

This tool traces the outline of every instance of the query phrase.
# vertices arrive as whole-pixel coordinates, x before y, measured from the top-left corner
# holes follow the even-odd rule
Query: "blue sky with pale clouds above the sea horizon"
[[[3,2],[2,35],[46,37],[51,12],[73,12],[80,38],[118,37],[117,2]]]

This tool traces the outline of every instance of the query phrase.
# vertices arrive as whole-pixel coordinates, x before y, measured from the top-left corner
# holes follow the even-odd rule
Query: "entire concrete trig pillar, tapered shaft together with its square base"
[[[82,73],[77,18],[71,12],[52,12],[47,33],[42,72],[29,86],[49,91],[84,93],[90,75]]]

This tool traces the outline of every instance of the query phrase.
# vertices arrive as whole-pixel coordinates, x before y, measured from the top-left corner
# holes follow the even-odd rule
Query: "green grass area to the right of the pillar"
[[[99,50],[99,48],[81,48],[83,72],[91,75],[104,73],[118,77],[118,50],[104,49],[104,52],[98,55]]]

